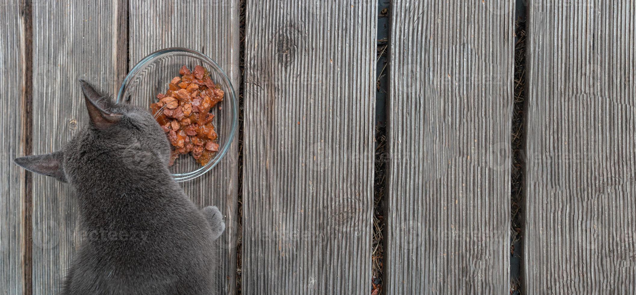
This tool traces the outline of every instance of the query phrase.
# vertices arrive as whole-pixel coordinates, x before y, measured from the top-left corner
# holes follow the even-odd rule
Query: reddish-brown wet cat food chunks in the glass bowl
[[[210,73],[197,65],[190,71],[185,65],[181,77],[172,78],[165,93],[150,105],[159,125],[174,146],[170,166],[180,154],[189,154],[205,166],[219,151],[210,109],[223,100],[223,90],[214,84]]]

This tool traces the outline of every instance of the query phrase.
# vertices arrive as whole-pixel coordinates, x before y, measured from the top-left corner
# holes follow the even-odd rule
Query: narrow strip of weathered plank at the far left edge
[[[25,172],[13,159],[24,156],[25,20],[19,3],[3,0],[0,6],[0,83],[6,86],[0,100],[0,294],[17,295],[24,291]]]

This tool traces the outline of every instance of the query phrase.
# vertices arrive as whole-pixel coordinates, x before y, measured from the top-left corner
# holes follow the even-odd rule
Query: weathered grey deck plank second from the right
[[[386,294],[508,294],[511,1],[394,1]]]

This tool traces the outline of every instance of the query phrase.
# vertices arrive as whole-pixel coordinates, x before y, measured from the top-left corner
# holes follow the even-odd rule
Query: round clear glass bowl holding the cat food
[[[181,154],[170,167],[176,181],[188,181],[205,174],[214,168],[230,149],[238,126],[239,111],[234,88],[228,76],[214,60],[203,53],[188,48],[165,48],[150,53],[132,68],[121,83],[116,100],[118,103],[125,102],[150,110],[150,104],[158,102],[156,95],[165,93],[170,80],[181,76],[179,69],[183,65],[191,71],[195,65],[205,67],[210,72],[212,81],[221,87],[225,95],[223,101],[210,110],[210,113],[214,114],[212,124],[218,134],[219,151],[205,166],[197,163],[191,154]]]

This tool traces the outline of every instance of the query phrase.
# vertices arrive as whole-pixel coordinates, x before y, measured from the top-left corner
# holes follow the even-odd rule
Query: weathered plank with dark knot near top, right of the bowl
[[[377,1],[245,11],[243,294],[366,294]]]

